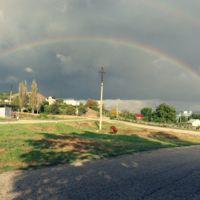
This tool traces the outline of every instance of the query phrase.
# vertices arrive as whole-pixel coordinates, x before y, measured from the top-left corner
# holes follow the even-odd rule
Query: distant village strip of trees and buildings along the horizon
[[[74,115],[99,117],[100,101],[88,99],[86,103],[73,99],[56,99],[53,96],[44,97],[37,93],[37,84],[32,82],[32,91],[27,92],[27,83],[19,84],[19,91],[0,93],[0,117],[15,117],[16,112],[33,113],[39,116],[54,115]],[[165,103],[160,104],[155,111],[150,107],[144,107],[140,113],[131,113],[128,110],[119,112],[114,107],[107,110],[102,107],[103,117],[110,119],[141,120],[144,122],[187,124],[189,126],[200,126],[200,114],[192,113],[191,110],[182,110],[177,113],[176,109]],[[19,115],[19,114],[18,114]]]

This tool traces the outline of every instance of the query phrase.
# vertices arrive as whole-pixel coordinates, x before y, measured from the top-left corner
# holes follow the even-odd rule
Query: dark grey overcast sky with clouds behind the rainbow
[[[18,90],[22,80],[30,91],[35,79],[44,96],[98,100],[98,71],[104,67],[108,109],[120,99],[119,109],[132,112],[163,102],[200,111],[200,80],[167,60],[200,76],[199,8],[197,0],[0,0],[0,92],[11,84]],[[3,55],[26,44],[74,37],[83,40]],[[154,49],[158,56],[111,39]]]

